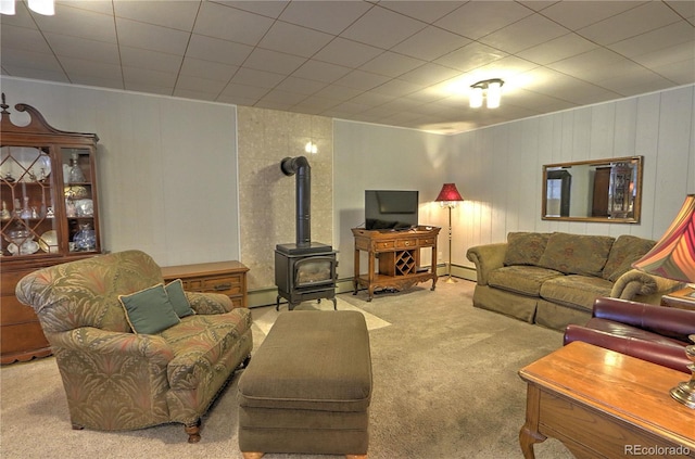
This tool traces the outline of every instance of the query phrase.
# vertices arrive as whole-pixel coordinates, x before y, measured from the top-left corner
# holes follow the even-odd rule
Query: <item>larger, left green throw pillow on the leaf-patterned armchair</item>
[[[119,295],[130,328],[137,334],[155,334],[180,322],[164,284],[156,284],[130,295]]]

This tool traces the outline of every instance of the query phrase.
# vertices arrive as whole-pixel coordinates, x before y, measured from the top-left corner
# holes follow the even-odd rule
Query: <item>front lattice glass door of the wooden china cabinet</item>
[[[61,199],[48,146],[0,148],[2,255],[34,256],[61,250],[55,205]]]

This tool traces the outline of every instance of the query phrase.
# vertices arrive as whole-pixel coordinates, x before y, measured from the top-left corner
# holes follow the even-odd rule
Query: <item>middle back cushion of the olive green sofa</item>
[[[608,235],[551,234],[539,266],[567,275],[601,276],[614,242]]]

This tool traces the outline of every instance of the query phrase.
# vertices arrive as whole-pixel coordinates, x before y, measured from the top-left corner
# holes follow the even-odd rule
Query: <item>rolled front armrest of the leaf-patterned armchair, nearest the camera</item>
[[[51,347],[76,350],[110,358],[142,357],[151,364],[166,367],[174,358],[172,346],[159,335],[112,332],[93,327],[80,327],[47,334]]]

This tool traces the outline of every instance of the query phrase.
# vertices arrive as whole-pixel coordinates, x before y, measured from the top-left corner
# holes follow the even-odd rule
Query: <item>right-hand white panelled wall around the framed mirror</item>
[[[453,137],[448,169],[467,199],[456,213],[453,263],[509,231],[633,234],[658,239],[695,193],[695,86],[630,98]],[[541,220],[544,164],[644,156],[642,220]],[[456,238],[458,235],[458,238]]]

